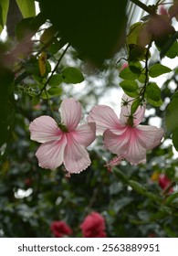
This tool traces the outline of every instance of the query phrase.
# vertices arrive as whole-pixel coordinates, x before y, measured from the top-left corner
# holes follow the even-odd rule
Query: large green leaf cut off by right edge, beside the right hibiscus
[[[165,112],[165,124],[170,133],[178,129],[178,91],[173,95],[172,101],[167,106]]]

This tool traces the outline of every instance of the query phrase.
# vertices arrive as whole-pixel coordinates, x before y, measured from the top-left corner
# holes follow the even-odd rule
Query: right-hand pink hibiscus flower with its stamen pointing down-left
[[[146,151],[160,144],[163,129],[150,125],[139,125],[143,119],[145,105],[139,106],[131,115],[133,99],[126,94],[122,97],[120,119],[108,106],[92,108],[88,121],[96,122],[97,130],[103,133],[103,143],[113,154],[118,155],[107,166],[119,165],[125,158],[131,165],[145,163]]]

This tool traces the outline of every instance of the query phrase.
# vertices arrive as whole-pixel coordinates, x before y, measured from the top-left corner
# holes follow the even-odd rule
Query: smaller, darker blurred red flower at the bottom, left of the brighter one
[[[72,230],[68,227],[65,221],[52,222],[50,229],[56,238],[63,238],[64,236],[72,233]]]

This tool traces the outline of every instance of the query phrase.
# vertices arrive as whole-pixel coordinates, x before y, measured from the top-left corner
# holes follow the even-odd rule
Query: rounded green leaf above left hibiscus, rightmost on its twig
[[[63,69],[62,76],[66,83],[80,83],[84,80],[81,71],[73,67]]]

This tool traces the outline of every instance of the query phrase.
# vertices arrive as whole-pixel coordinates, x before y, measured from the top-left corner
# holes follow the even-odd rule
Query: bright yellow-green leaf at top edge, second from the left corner
[[[36,5],[34,0],[16,0],[23,17],[36,16]]]

